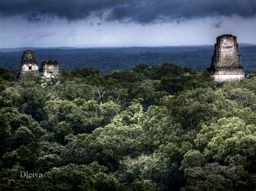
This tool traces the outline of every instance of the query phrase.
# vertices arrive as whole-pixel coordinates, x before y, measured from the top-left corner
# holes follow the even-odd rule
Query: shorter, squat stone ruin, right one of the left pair
[[[59,73],[59,62],[58,61],[43,61],[41,67],[42,74],[46,79],[50,79]]]

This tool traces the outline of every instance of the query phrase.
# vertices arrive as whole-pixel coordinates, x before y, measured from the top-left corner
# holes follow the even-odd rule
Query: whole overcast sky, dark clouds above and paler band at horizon
[[[1,0],[0,47],[256,44],[255,0]]]

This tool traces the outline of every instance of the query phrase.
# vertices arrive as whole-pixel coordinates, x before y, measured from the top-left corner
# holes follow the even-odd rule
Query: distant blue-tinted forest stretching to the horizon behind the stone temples
[[[153,66],[165,62],[176,62],[201,71],[210,67],[213,52],[213,46],[35,49],[39,63],[43,60],[58,60],[60,67],[67,70],[93,67],[104,74],[113,69],[132,69],[138,63]],[[246,73],[255,71],[256,46],[241,46],[239,52]],[[0,66],[18,67],[22,53],[0,52]]]

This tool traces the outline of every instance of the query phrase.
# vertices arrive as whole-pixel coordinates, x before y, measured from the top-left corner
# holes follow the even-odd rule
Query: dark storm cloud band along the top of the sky
[[[22,15],[30,22],[97,17],[105,22],[150,24],[207,16],[253,17],[255,0],[1,0],[2,16]],[[221,23],[220,23],[221,24]],[[218,27],[218,25],[216,25]]]

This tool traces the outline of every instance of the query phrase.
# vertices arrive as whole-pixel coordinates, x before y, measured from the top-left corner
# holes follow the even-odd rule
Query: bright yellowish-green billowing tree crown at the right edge
[[[203,125],[195,143],[207,159],[255,171],[255,131],[255,125],[246,125],[242,119],[221,118],[216,124]]]

